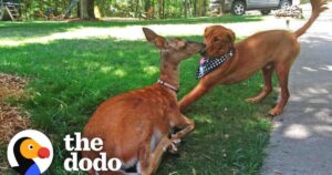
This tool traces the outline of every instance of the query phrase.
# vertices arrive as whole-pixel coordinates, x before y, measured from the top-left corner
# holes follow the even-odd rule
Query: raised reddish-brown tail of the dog
[[[311,17],[302,28],[294,32],[297,38],[305,33],[305,31],[312,25],[312,23],[315,21],[315,19],[320,16],[321,12],[329,9],[328,7],[325,7],[326,0],[310,0],[310,2],[312,6]]]

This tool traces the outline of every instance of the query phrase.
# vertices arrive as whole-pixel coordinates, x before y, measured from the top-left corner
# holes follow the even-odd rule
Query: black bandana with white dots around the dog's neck
[[[208,73],[215,71],[217,68],[222,65],[229,58],[234,55],[234,50],[229,50],[228,53],[224,54],[217,59],[208,59],[201,58],[199,62],[198,70],[196,72],[196,78],[201,79],[203,76],[207,75]]]

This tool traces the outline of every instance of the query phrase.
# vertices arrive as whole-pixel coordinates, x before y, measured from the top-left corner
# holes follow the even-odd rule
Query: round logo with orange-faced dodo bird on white
[[[53,147],[41,132],[25,130],[12,137],[7,157],[10,166],[22,175],[40,175],[51,165]]]

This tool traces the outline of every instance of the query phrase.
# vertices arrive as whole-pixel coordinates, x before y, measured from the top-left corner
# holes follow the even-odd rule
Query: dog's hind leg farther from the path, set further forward
[[[272,75],[273,75],[273,71],[274,71],[274,66],[271,64],[266,65],[262,69],[262,76],[263,76],[263,82],[264,82],[264,86],[262,89],[262,91],[250,99],[247,99],[246,101],[249,103],[258,103],[260,101],[262,101],[263,99],[266,99],[271,92],[272,92]]]

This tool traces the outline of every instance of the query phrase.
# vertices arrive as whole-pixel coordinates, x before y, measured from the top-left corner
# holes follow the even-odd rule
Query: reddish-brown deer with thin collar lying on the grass
[[[90,119],[83,134],[90,140],[102,138],[104,145],[101,152],[105,152],[107,158],[117,157],[122,161],[122,171],[117,174],[125,174],[133,166],[137,167],[138,174],[153,174],[165,150],[176,151],[173,142],[179,141],[195,127],[194,122],[183,115],[177,105],[178,64],[200,52],[205,45],[179,39],[166,40],[146,28],[143,31],[146,39],[160,50],[159,81],[102,103]],[[169,138],[173,127],[180,131]],[[98,153],[82,152],[82,155],[94,159]]]

